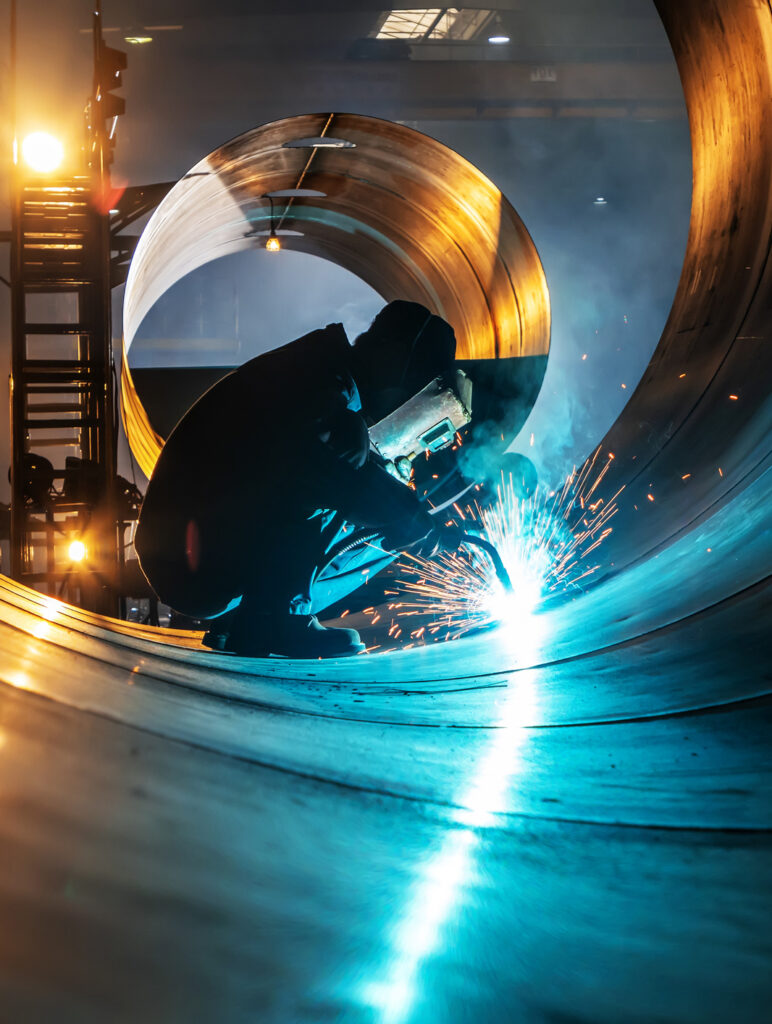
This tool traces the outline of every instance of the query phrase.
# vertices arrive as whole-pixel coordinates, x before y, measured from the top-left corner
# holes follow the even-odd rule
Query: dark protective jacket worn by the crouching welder
[[[301,535],[319,509],[384,531],[405,520],[417,537],[430,528],[415,494],[369,454],[350,364],[343,327],[332,324],[244,364],[180,420],[135,538],[162,601],[213,615],[264,585],[268,565],[312,569],[298,564],[313,559]]]

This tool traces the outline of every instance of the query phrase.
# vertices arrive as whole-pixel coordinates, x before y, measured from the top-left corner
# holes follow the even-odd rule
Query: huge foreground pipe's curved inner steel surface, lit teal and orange
[[[604,442],[612,570],[510,646],[340,663],[203,652],[2,580],[11,1019],[764,1019],[772,17],[657,6],[694,209]]]

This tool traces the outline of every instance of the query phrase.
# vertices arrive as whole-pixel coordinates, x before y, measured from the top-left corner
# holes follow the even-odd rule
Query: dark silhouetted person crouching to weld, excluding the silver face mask
[[[312,613],[342,596],[319,573],[354,527],[378,531],[381,564],[458,547],[368,432],[453,370],[455,353],[443,319],[399,301],[353,345],[332,324],[219,381],[170,435],[140,512],[136,551],[159,598],[213,620],[209,644],[245,656],[361,651],[354,630]],[[348,591],[363,582],[355,568]]]

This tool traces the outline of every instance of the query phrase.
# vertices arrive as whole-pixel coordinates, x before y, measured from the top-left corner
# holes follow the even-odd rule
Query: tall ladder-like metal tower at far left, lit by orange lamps
[[[11,16],[15,58],[15,5]],[[121,84],[126,60],[104,45],[99,4],[93,36],[87,172],[36,174],[14,152],[10,569],[22,583],[117,614],[123,531],[116,490],[109,167],[115,118],[124,109],[111,92]],[[85,545],[81,561],[70,557],[75,539]]]

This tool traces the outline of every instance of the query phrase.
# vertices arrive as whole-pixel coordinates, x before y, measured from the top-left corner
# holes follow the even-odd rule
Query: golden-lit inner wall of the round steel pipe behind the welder
[[[355,148],[338,148],[338,138]],[[324,147],[317,143],[324,142]],[[297,148],[301,143],[311,145]],[[271,199],[285,189],[324,196]],[[275,219],[273,213],[275,212]],[[385,300],[423,302],[456,330],[461,358],[545,355],[550,304],[535,247],[494,183],[447,146],[404,125],[351,114],[303,115],[241,135],[169,193],[137,246],[126,286],[125,346],[177,281],[275,226],[282,248],[329,259]],[[284,237],[284,230],[299,236]],[[264,243],[260,242],[260,245]],[[125,360],[124,360],[125,365]],[[130,377],[124,390],[132,390]],[[123,401],[147,475],[160,444],[135,393]]]

